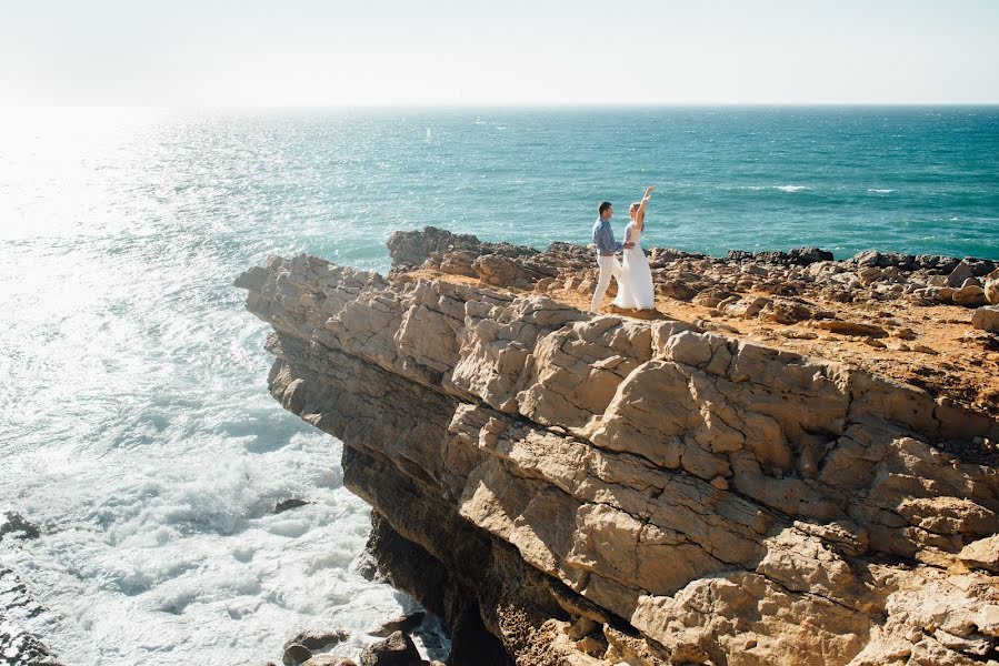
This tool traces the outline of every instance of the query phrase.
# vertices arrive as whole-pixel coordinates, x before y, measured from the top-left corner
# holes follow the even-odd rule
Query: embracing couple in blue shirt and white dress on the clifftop
[[[649,269],[649,260],[646,259],[646,253],[641,249],[646,205],[652,199],[655,190],[656,186],[650,185],[641,201],[631,204],[631,209],[628,211],[631,221],[625,228],[623,243],[615,241],[615,233],[610,228],[610,219],[615,213],[611,203],[605,201],[598,206],[597,212],[600,216],[593,224],[593,245],[597,246],[597,265],[600,266],[600,278],[597,280],[597,291],[593,292],[590,312],[597,313],[600,310],[611,276],[618,281],[618,295],[613,300],[615,305],[631,310],[655,307],[652,271]],[[618,252],[623,252],[623,263],[618,261]]]

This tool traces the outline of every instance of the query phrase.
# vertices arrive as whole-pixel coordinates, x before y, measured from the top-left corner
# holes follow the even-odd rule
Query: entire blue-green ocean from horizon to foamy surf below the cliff
[[[267,393],[231,286],[270,253],[389,266],[428,224],[545,248],[656,184],[650,245],[999,259],[999,108],[0,114],[0,542],[69,666],[356,656],[411,602],[350,564],[340,443]],[[273,514],[283,498],[311,504]]]

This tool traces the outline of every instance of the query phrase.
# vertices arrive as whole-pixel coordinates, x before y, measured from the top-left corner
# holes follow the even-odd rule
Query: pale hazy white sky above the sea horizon
[[[999,0],[0,0],[0,105],[922,102]]]

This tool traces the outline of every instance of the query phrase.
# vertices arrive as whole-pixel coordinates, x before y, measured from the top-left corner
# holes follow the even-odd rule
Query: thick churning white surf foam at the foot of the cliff
[[[330,483],[339,453],[318,433],[263,454],[203,441],[42,481],[16,506],[46,535],[4,553],[44,591],[34,628],[69,664],[250,662],[306,625],[351,630],[338,654],[357,657],[412,603],[349,571],[369,519]],[[288,496],[313,504],[273,515]]]

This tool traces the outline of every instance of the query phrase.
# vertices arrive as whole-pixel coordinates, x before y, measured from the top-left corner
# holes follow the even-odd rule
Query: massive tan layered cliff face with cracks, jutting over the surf
[[[237,284],[452,664],[999,659],[999,474],[941,446],[988,415],[545,295],[307,255]]]

